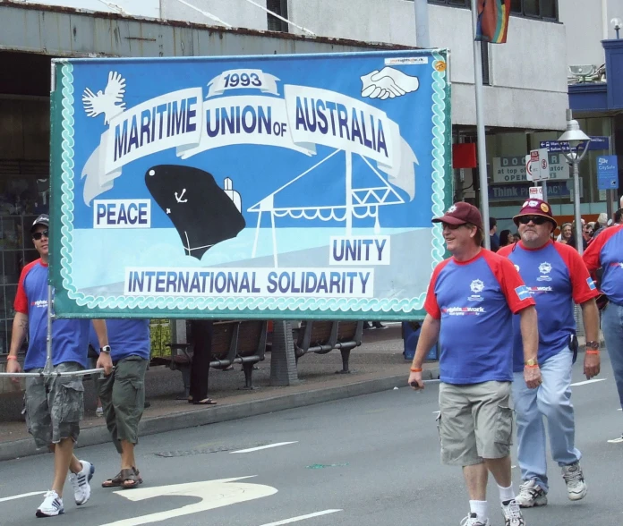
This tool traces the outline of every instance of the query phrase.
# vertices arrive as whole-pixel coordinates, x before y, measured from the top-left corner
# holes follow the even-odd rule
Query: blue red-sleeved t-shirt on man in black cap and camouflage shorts
[[[37,259],[21,270],[13,308],[28,315],[29,345],[24,370],[46,365],[47,265]],[[52,364],[75,361],[87,367],[90,320],[55,319],[52,322]]]

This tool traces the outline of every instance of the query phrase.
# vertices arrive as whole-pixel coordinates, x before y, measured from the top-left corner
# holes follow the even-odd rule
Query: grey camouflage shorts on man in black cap
[[[56,371],[82,370],[79,363],[60,363]],[[41,372],[31,369],[29,372]],[[38,448],[58,444],[64,438],[78,441],[84,413],[81,377],[27,378],[24,397],[26,424]]]

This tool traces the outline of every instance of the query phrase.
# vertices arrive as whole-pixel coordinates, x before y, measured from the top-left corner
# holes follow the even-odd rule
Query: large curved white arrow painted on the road
[[[277,493],[277,488],[264,484],[248,484],[237,480],[251,479],[252,477],[235,477],[234,479],[202,480],[173,486],[154,486],[153,488],[135,488],[132,491],[115,491],[115,495],[123,496],[132,502],[146,500],[158,496],[194,496],[199,502],[190,505],[181,505],[179,508],[166,512],[149,513],[141,517],[122,519],[109,522],[102,526],[138,526],[150,522],[166,521],[174,517],[182,517],[191,513],[201,513],[227,505],[271,496]]]

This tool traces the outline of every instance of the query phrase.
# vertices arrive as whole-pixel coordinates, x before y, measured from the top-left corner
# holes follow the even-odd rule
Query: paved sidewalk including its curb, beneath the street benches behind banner
[[[400,324],[392,324],[386,329],[363,331],[363,344],[351,352],[352,372],[346,375],[336,374],[342,369],[337,351],[303,356],[298,362],[299,382],[294,386],[269,385],[270,353],[258,364],[260,370],[253,371],[253,384],[257,387],[253,391],[240,390],[244,386],[240,365],[231,371],[210,369],[209,396],[218,402],[211,406],[176,400],[183,395],[179,371],[166,367],[149,369],[145,384],[151,407],[141,420],[141,436],[404,387],[409,361],[405,361],[402,352]],[[438,378],[437,363],[426,364],[425,374]],[[95,415],[95,408],[93,382],[86,380],[79,446],[102,444],[110,439],[103,419]],[[20,411],[21,394],[0,396],[0,460],[37,454]]]

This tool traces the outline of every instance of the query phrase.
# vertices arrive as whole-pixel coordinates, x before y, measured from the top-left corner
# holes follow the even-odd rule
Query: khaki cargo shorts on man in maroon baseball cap
[[[513,411],[511,382],[440,384],[441,462],[470,466],[510,454]]]

